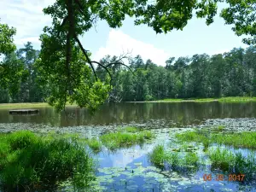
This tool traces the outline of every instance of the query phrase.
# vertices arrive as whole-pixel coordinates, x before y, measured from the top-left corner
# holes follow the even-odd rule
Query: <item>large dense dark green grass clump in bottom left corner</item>
[[[89,187],[95,162],[74,139],[37,136],[31,131],[2,134],[0,186],[3,191],[45,191],[70,179],[76,188]]]

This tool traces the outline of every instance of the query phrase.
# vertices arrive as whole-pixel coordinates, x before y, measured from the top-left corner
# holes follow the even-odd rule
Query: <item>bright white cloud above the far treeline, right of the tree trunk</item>
[[[158,49],[153,44],[143,43],[120,30],[112,29],[109,32],[106,46],[98,49],[93,55],[93,59],[99,61],[105,55],[121,55],[125,52],[131,52],[131,56],[141,55],[144,61],[151,59],[154,63],[162,66],[166,65],[166,60],[170,57],[165,50]]]

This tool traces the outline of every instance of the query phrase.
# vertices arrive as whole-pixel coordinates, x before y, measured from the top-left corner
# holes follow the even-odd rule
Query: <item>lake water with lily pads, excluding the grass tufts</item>
[[[224,125],[226,131],[255,131],[256,102],[124,102],[104,105],[94,115],[75,107],[68,107],[61,114],[49,107],[38,109],[40,112],[35,115],[9,115],[9,109],[0,109],[0,131],[29,129],[99,137],[116,131],[119,126],[132,125],[154,132],[154,141],[142,146],[134,145],[114,152],[104,148],[94,154],[99,161],[97,177],[102,191],[256,191],[255,181],[251,180],[205,181],[205,174],[228,177],[231,172],[212,170],[201,145],[196,145],[196,153],[203,161],[196,170],[159,168],[148,159],[148,153],[159,144],[178,148],[175,133],[194,127]],[[241,151],[245,156],[254,152],[247,148],[229,147],[229,150]]]

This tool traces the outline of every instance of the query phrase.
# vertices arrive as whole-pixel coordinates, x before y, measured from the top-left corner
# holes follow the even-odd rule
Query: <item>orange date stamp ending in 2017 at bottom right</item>
[[[242,182],[244,181],[245,174],[229,174],[225,176],[224,174],[217,174],[212,176],[212,174],[204,174],[204,181],[230,181],[230,182]]]

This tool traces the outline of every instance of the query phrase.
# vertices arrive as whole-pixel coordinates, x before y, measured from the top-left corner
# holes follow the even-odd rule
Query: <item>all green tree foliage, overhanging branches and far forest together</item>
[[[183,30],[194,13],[198,18],[206,18],[207,25],[210,25],[217,14],[218,3],[223,2],[227,6],[220,16],[225,23],[234,26],[232,30],[236,35],[245,35],[244,43],[255,44],[255,1],[252,0],[57,0],[44,9],[44,14],[51,16],[52,25],[45,26],[40,36],[42,49],[34,68],[30,61],[34,62],[31,56],[36,52],[30,52],[30,44],[20,50],[21,55],[14,55],[11,52],[15,49],[15,29],[0,24],[0,54],[6,55],[7,60],[0,66],[1,100],[9,100],[7,94],[11,95],[12,101],[28,102],[42,96],[47,97],[49,104],[57,111],[61,111],[67,102],[94,110],[108,96],[118,101],[142,101],[166,97],[253,95],[253,67],[244,66],[245,61],[241,61],[240,57],[233,61],[231,52],[231,55],[213,55],[211,58],[207,55],[178,58],[173,67],[174,60],[170,58],[166,69],[156,67],[151,61],[143,63],[138,57],[135,63],[139,61],[142,66],[136,64],[137,75],[131,76],[131,73],[116,67],[125,65],[122,59],[115,58],[105,65],[91,61],[90,52],[79,41],[79,37],[96,25],[99,19],[106,20],[110,27],[115,28],[122,26],[127,15],[135,18],[135,25],[146,24],[156,33]],[[98,71],[103,68],[110,76],[108,78],[112,77],[109,68],[115,73],[113,90],[108,78],[107,81],[98,78],[93,64],[98,66]],[[234,78],[236,75],[239,76],[237,79]],[[33,84],[35,77],[38,83]],[[243,77],[245,79],[241,82]],[[20,83],[20,93],[24,96],[15,97],[14,94],[18,94],[17,84]],[[230,88],[230,84],[235,84],[234,88]],[[39,100],[42,101],[42,98]]]

